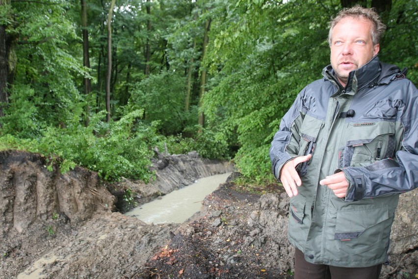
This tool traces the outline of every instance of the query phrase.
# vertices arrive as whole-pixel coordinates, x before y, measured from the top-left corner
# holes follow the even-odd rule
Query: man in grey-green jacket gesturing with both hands
[[[418,186],[418,92],[379,61],[385,26],[355,6],[331,22],[331,65],[283,117],[270,148],[290,196],[295,279],[377,279],[400,193]]]

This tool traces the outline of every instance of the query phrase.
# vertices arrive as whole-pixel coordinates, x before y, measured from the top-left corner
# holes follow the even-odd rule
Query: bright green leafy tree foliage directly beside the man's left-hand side
[[[281,116],[329,61],[327,11],[314,4],[239,2],[212,30],[207,63],[214,77],[204,109],[209,123],[236,131],[235,161],[246,176],[268,175],[268,147]]]

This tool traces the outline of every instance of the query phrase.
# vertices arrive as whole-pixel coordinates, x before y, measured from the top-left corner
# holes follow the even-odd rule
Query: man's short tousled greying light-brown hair
[[[332,32],[334,27],[344,18],[352,17],[357,19],[366,19],[369,20],[373,28],[371,29],[371,38],[373,45],[379,43],[380,37],[385,32],[386,26],[380,20],[379,14],[375,11],[374,8],[364,8],[360,5],[355,5],[352,8],[344,8],[341,10],[338,15],[330,22],[330,31],[328,33],[328,43],[331,46],[332,43]]]

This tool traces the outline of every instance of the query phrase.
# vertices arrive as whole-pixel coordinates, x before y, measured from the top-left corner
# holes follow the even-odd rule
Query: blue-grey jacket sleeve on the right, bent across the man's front
[[[345,201],[400,194],[418,187],[418,90],[409,83],[407,100],[403,102],[400,122],[402,145],[393,159],[387,158],[365,167],[345,167],[349,181]]]

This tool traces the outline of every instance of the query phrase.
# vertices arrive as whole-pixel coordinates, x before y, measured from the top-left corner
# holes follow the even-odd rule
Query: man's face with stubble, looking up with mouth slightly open
[[[347,17],[333,29],[331,41],[331,66],[342,86],[348,73],[360,68],[377,55],[379,44],[373,45],[369,20]]]

